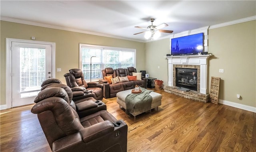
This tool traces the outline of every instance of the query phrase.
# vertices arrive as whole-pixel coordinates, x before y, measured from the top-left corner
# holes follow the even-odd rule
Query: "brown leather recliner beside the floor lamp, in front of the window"
[[[72,89],[72,91],[84,91],[91,92],[92,96],[96,100],[103,99],[103,85],[96,82],[86,83],[84,80],[84,74],[81,69],[70,69],[69,73],[64,75],[67,85]]]

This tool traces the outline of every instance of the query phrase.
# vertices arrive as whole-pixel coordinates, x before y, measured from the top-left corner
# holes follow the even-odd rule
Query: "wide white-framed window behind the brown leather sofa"
[[[80,44],[79,47],[79,68],[82,69],[85,80],[102,79],[101,70],[106,67],[113,69],[135,67],[136,49],[88,44]]]

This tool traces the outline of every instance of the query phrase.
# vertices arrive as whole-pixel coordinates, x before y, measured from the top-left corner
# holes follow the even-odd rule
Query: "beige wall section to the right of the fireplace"
[[[219,98],[256,107],[256,21],[211,29],[208,39],[209,76],[221,79]]]

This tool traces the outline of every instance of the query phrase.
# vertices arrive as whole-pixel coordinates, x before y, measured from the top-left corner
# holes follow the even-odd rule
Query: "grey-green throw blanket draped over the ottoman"
[[[125,98],[127,113],[145,112],[151,109],[152,97],[149,95],[152,90],[139,87],[141,93],[131,93]]]

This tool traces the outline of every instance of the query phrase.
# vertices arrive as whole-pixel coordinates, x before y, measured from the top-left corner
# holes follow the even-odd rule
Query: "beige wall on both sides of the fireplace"
[[[256,107],[256,21],[210,29],[208,52],[210,77],[220,77],[219,99]],[[146,43],[146,71],[168,85],[169,39]],[[160,66],[160,69],[158,69]],[[224,69],[224,73],[219,73]],[[210,90],[208,83],[208,89]],[[240,94],[241,99],[236,95]]]

